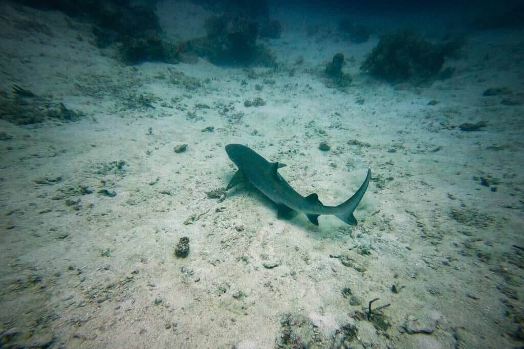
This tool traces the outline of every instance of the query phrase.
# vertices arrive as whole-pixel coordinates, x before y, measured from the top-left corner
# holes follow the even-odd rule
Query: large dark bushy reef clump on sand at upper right
[[[463,44],[463,38],[431,43],[414,30],[401,29],[380,36],[361,71],[393,83],[428,81],[439,74],[445,58]]]

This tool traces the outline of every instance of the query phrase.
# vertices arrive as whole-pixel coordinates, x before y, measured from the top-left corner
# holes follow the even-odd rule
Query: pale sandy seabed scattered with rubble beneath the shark
[[[122,66],[111,49],[90,43],[89,25],[70,19],[69,28],[58,12],[1,8],[8,20],[0,29],[0,89],[10,94],[13,84],[24,86],[86,114],[34,126],[0,121],[13,136],[0,141],[0,332],[16,329],[13,343],[272,348],[281,341],[284,314],[292,314],[304,320],[293,331],[319,339],[310,347],[332,347],[347,323],[358,328],[354,347],[521,344],[510,334],[519,326],[514,317],[523,315],[524,273],[516,265],[522,267],[523,255],[512,245],[524,245],[524,108],[482,93],[506,86],[522,98],[522,32],[475,33],[464,57],[449,61],[457,68],[450,80],[402,89],[359,73],[376,37],[352,45],[285,31],[270,43],[278,61],[291,69],[303,55],[305,63],[293,77],[286,69],[256,68],[259,77],[251,80],[243,69],[204,60]],[[47,25],[52,35],[28,22]],[[344,68],[354,74],[346,92],[308,72],[321,71],[338,51],[355,58]],[[168,69],[203,85],[187,91],[169,81]],[[275,85],[255,91],[264,78]],[[157,98],[155,109],[126,107],[126,99],[145,93]],[[257,96],[265,106],[244,107]],[[432,99],[439,103],[428,105]],[[197,120],[188,120],[197,103],[211,108],[196,109]],[[245,115],[230,122],[217,103],[234,106],[227,116]],[[445,127],[481,120],[488,127],[479,132]],[[201,132],[208,126],[214,131]],[[352,139],[370,147],[348,145]],[[323,140],[329,152],[318,149]],[[371,168],[373,181],[355,212],[359,225],[323,216],[316,228],[300,213],[279,220],[271,202],[248,186],[223,202],[207,198],[234,173],[224,151],[233,142],[286,163],[279,171],[288,182],[328,205],[350,197]],[[181,143],[187,151],[174,153]],[[504,149],[486,149],[493,145]],[[126,161],[121,174],[97,173],[97,164],[119,160]],[[500,181],[496,192],[473,179],[486,175]],[[62,181],[54,185],[35,183],[57,176]],[[78,185],[94,193],[52,199]],[[102,188],[117,195],[97,194]],[[67,198],[80,199],[81,209],[65,205]],[[456,221],[452,209],[470,216]],[[200,219],[184,224],[192,215]],[[190,254],[174,257],[183,236]],[[364,247],[369,255],[358,253]],[[330,257],[343,254],[365,271]],[[394,294],[393,284],[405,288]],[[351,306],[344,287],[362,305]],[[239,291],[247,297],[234,298]],[[391,303],[383,310],[391,324],[386,332],[350,316],[373,298],[380,298],[376,307]],[[401,333],[408,322],[434,332]]]

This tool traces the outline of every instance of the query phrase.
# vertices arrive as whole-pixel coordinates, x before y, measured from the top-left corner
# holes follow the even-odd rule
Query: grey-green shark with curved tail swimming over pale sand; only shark
[[[357,208],[371,178],[371,170],[367,170],[364,183],[356,193],[338,206],[326,206],[319,200],[316,193],[302,196],[294,190],[289,183],[278,173],[278,169],[286,166],[279,162],[269,162],[254,150],[242,144],[227,144],[225,147],[227,155],[238,167],[226,187],[227,190],[238,184],[249,182],[260,190],[278,207],[280,217],[288,215],[292,211],[305,213],[309,221],[315,226],[319,225],[319,216],[333,215],[340,218],[346,224],[357,225],[353,212]]]

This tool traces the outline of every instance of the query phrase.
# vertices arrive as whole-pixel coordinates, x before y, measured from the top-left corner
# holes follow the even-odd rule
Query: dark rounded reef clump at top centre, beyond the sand
[[[249,17],[211,17],[205,29],[207,35],[185,43],[184,52],[194,52],[216,65],[276,65],[271,51],[257,44],[258,25]]]

